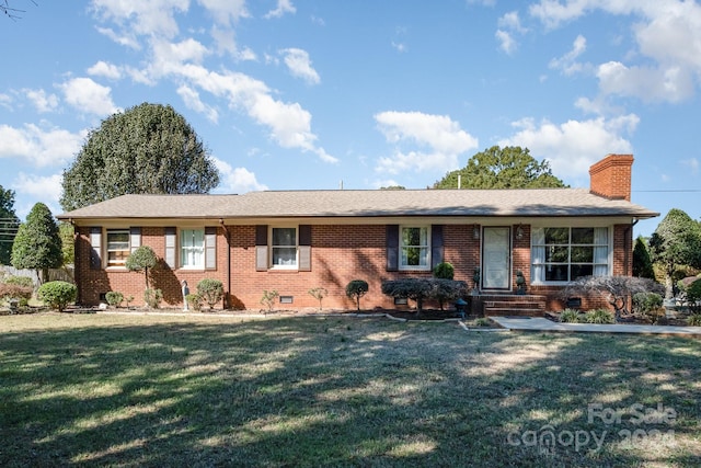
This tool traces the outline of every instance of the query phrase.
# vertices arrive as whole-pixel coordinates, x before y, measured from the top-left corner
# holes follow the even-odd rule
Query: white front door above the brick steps
[[[482,231],[482,288],[509,289],[512,272],[510,228],[485,227]]]

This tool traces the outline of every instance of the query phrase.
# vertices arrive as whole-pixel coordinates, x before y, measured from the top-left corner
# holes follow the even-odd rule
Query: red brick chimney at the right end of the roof
[[[630,202],[632,167],[633,155],[607,155],[589,168],[589,192]]]

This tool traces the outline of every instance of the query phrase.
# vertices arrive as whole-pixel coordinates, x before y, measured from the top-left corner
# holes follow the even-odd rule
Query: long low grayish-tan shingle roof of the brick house
[[[392,216],[659,216],[587,189],[266,191],[243,195],[123,195],[59,219]]]

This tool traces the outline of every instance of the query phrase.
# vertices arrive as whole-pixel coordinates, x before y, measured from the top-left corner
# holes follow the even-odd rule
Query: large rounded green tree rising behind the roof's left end
[[[170,105],[143,103],[104,119],[64,171],[60,204],[81,208],[125,194],[208,193],[219,171]]]

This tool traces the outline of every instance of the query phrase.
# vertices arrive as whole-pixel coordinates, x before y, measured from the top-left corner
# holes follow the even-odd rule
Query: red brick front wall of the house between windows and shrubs
[[[462,279],[472,288],[472,274],[480,261],[480,239],[474,239],[473,225],[444,226],[444,258],[453,264],[456,279]],[[518,225],[513,227],[514,231]],[[555,287],[530,287],[530,226],[522,225],[524,236],[513,240],[513,274],[520,270],[529,285],[529,292],[548,296],[551,310],[562,308]],[[228,304],[232,308],[263,309],[260,304],[263,290],[277,290],[281,296],[292,296],[291,305],[276,304],[276,308],[301,309],[318,307],[319,303],[309,289],[324,287],[329,296],[323,300],[324,309],[354,309],[355,304],[345,296],[345,287],[353,279],[365,279],[368,294],[360,299],[363,309],[375,307],[394,308],[393,299],[381,293],[383,279],[405,276],[432,276],[430,272],[388,272],[386,270],[384,225],[312,226],[311,271],[255,271],[255,226],[228,226],[231,241],[231,289]],[[78,230],[76,247],[76,278],[79,284],[79,300],[94,305],[100,294],[118,290],[135,297],[134,305],[143,305],[143,274],[125,270],[91,270],[89,228]],[[614,227],[616,248],[613,273],[630,274],[632,231],[629,225]],[[103,240],[104,242],[104,240]],[[164,255],[163,228],[142,228],[141,243],[151,247],[159,258]],[[161,269],[153,272],[153,285],[163,290],[165,303],[182,307],[181,282],[186,279],[191,292],[205,277],[216,278],[228,289],[227,233],[222,227],[217,231],[217,270],[187,271]],[[594,303],[591,303],[594,304]],[[598,304],[598,303],[597,303]],[[589,303],[586,304],[589,307]],[[594,306],[591,306],[594,307]],[[596,307],[599,307],[598,305]]]

